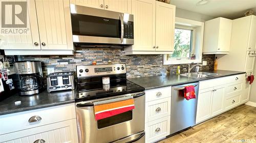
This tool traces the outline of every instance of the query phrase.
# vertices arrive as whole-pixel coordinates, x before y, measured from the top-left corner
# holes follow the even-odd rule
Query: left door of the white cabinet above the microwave
[[[70,0],[70,3],[79,6],[104,9],[104,0]]]

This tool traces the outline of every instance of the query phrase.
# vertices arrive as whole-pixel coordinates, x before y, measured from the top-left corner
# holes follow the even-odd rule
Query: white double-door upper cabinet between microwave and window
[[[125,54],[169,54],[174,50],[175,6],[154,1],[132,1],[134,45]]]

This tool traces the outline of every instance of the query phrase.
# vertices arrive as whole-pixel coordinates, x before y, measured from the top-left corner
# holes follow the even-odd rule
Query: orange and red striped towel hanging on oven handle
[[[133,96],[94,102],[95,119],[100,120],[135,108]]]

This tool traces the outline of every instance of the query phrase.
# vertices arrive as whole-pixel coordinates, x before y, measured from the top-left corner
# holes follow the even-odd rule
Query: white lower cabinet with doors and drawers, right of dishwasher
[[[199,82],[196,124],[241,104],[244,74]]]

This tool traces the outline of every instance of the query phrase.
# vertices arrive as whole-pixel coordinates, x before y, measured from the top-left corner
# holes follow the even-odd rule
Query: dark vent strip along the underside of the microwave
[[[125,48],[131,45],[119,45],[119,44],[95,44],[95,43],[74,43],[75,47],[85,47],[85,48]]]

